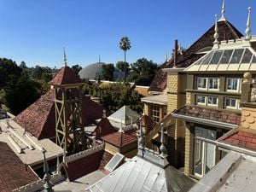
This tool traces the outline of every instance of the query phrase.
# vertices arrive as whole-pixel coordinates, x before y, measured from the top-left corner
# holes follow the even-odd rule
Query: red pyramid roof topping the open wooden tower
[[[72,71],[70,67],[62,67],[54,76],[54,78],[49,81],[49,84],[79,84],[82,80],[79,76]]]

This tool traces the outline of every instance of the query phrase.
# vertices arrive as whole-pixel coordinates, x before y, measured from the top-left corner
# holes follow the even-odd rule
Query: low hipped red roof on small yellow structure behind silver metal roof
[[[136,130],[129,130],[125,132],[113,132],[107,136],[102,137],[106,143],[111,143],[118,148],[125,147],[131,143],[137,142]]]

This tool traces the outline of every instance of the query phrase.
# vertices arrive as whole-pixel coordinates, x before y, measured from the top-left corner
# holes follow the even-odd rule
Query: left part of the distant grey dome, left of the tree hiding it
[[[97,79],[99,75],[102,75],[102,65],[103,62],[96,62],[84,67],[79,71],[80,79]]]

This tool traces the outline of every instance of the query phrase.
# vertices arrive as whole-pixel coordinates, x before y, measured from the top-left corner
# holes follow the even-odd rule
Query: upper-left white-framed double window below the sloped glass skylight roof
[[[197,78],[198,90],[218,90],[218,78]]]

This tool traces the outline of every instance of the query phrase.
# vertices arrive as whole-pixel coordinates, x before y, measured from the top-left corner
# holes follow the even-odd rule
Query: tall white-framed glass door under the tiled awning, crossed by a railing
[[[216,131],[195,127],[194,174],[202,177],[215,166],[216,147],[212,143],[204,142],[196,137],[216,140]]]

